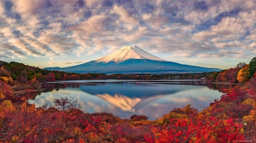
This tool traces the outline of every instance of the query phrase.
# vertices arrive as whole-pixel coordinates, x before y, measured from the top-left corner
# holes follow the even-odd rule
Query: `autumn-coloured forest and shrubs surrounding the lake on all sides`
[[[0,61],[2,143],[231,143],[256,141],[256,57],[220,72],[162,75],[76,74]],[[154,121],[145,115],[121,119],[110,112],[85,113],[72,97],[49,107],[29,103],[40,82],[79,79],[200,79],[236,86],[202,111],[188,103]],[[19,93],[19,91],[25,91]],[[19,93],[19,94],[17,94]]]

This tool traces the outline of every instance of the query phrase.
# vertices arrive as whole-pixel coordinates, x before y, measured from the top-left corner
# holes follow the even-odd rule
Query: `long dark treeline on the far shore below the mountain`
[[[77,74],[61,71],[49,71],[40,69],[39,67],[31,67],[17,62],[3,62],[0,61],[1,72],[0,77],[17,80],[18,82],[26,83],[30,80],[38,80],[39,82],[54,81],[54,80],[92,80],[92,79],[136,79],[136,80],[157,80],[157,79],[200,79],[202,77],[210,76],[215,72],[200,73],[200,74],[100,74],[100,73],[87,73]]]

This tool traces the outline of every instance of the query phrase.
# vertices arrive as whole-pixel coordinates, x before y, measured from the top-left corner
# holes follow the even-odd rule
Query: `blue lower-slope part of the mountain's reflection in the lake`
[[[148,84],[148,83],[111,83],[106,85],[93,85],[93,86],[81,86],[80,90],[89,93],[91,95],[125,95],[129,98],[148,98],[155,95],[166,95],[173,94],[179,91],[185,91],[189,86],[181,85],[158,85],[158,84]],[[196,88],[196,86],[191,86],[191,88]],[[191,89],[189,88],[189,89]]]

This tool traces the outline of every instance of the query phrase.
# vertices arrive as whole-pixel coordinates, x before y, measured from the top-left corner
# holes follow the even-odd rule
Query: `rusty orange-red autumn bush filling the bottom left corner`
[[[38,136],[43,134],[49,121],[41,118],[35,104],[29,103],[29,95],[22,97],[20,103],[4,100],[0,109],[0,142],[40,142]]]

